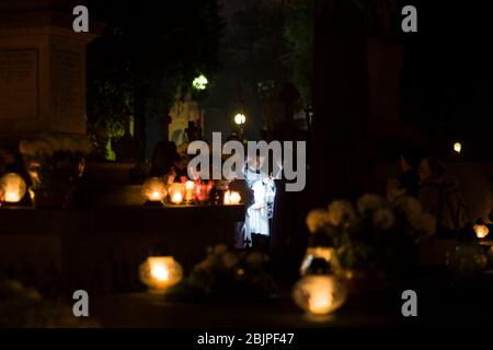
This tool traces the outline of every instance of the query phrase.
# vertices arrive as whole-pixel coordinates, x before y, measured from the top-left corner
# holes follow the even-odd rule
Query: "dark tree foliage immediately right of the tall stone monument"
[[[217,0],[181,1],[172,9],[165,4],[89,1],[92,19],[106,25],[88,49],[92,135],[102,126],[110,136],[122,136],[134,117],[136,133],[142,137],[146,118],[167,115],[177,91],[186,92],[197,74],[210,81],[217,71],[223,28]]]

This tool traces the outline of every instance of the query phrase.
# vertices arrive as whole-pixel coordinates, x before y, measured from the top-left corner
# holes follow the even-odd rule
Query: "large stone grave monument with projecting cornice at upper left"
[[[74,15],[23,11],[0,14],[0,145],[85,135],[85,47],[101,24],[74,33]]]

